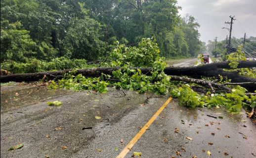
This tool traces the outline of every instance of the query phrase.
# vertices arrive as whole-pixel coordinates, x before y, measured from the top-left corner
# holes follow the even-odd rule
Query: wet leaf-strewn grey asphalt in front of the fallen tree
[[[170,96],[110,90],[97,94],[38,84],[1,87],[0,157],[116,158],[151,118],[155,120],[125,158],[133,152],[141,152],[141,158],[256,157],[256,123],[245,114],[190,109],[172,99],[155,116]],[[47,105],[56,100],[63,104]],[[24,146],[7,151],[19,143]]]

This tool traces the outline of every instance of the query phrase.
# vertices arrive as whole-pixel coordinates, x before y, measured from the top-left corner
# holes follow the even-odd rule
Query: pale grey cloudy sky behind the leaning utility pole
[[[243,38],[256,37],[256,0],[177,0],[181,17],[186,14],[192,15],[200,24],[198,29],[201,34],[201,41],[208,42],[217,37],[217,41],[229,37],[227,29],[231,17],[235,16],[232,25],[231,37]]]

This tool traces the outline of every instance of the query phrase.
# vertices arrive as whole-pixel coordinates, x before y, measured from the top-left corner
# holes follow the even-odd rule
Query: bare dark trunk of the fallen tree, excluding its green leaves
[[[221,75],[222,77],[227,77],[228,79],[231,79],[231,82],[256,82],[256,79],[254,78],[248,78],[245,76],[240,76],[237,73],[234,72],[226,72],[222,69],[230,69],[230,66],[228,65],[229,62],[220,62],[220,63],[212,63],[207,64],[203,66],[197,66],[197,67],[167,67],[164,72],[167,75],[171,76],[190,76],[197,79],[200,79],[201,77],[218,77],[218,75]],[[238,68],[252,68],[256,67],[256,61],[240,61]],[[85,77],[99,77],[101,76],[101,73],[106,75],[112,75],[112,71],[122,69],[120,67],[116,68],[92,68],[92,69],[80,69],[77,71],[76,74],[82,74]],[[151,75],[149,73],[152,68],[130,68],[130,69],[140,69],[142,74]],[[71,70],[62,70],[62,71],[54,71],[54,72],[42,72],[42,73],[30,73],[30,74],[13,74],[8,76],[1,76],[0,81],[1,82],[8,82],[8,81],[38,81],[40,79],[43,79],[44,75],[48,79],[61,79],[63,77],[63,74],[70,72]],[[252,86],[253,85],[253,86]],[[255,84],[248,84],[243,85],[246,88],[249,88],[251,90],[255,90],[256,86]],[[248,90],[249,90],[248,89]]]

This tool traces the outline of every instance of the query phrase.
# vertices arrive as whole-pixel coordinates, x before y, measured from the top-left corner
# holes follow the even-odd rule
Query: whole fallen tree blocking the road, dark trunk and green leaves
[[[117,45],[109,57],[111,62],[101,63],[102,67],[94,69],[16,74],[1,76],[0,79],[1,82],[54,79],[45,84],[49,88],[93,90],[97,93],[106,93],[107,86],[138,93],[171,93],[182,106],[224,106],[232,113],[240,113],[242,107],[252,110],[256,107],[255,93],[247,92],[256,89],[255,70],[250,69],[256,67],[256,62],[246,61],[241,48],[227,55],[227,62],[188,68],[167,67],[159,57],[157,44],[151,39],[142,39],[138,47]],[[193,90],[195,87],[199,88],[200,94]]]

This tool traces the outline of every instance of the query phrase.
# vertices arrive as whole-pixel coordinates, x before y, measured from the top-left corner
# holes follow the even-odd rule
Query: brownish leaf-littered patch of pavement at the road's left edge
[[[56,95],[70,93],[64,89],[48,89],[45,85],[28,84],[1,87],[0,111],[8,111],[50,99]]]

